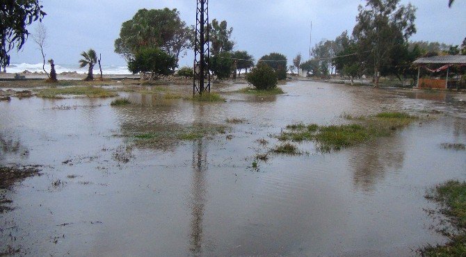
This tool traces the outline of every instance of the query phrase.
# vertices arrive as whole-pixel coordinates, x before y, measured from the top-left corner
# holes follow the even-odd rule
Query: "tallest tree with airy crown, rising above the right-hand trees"
[[[378,86],[380,68],[390,62],[392,49],[407,42],[416,33],[416,8],[400,0],[367,0],[359,6],[357,24],[353,36],[360,44],[360,54],[366,56],[364,63],[373,69],[374,83]]]

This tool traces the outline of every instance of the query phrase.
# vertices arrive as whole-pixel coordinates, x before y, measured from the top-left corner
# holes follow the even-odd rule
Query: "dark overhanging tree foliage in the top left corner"
[[[26,26],[46,15],[38,0],[1,1],[0,6],[0,66],[3,72],[10,65],[11,49],[21,49],[26,42],[29,31]]]

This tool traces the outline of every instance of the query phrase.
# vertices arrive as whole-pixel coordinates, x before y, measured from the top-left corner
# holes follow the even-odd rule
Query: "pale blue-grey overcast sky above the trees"
[[[465,0],[401,0],[417,7],[417,34],[411,40],[461,44],[466,37]],[[122,22],[141,8],[177,8],[186,24],[195,24],[195,0],[42,0],[47,13],[47,58],[58,64],[78,64],[79,54],[89,48],[102,53],[102,65],[126,65],[114,53],[113,42]],[[255,59],[273,51],[284,53],[291,63],[297,53],[309,58],[310,23],[312,44],[333,40],[343,31],[353,31],[357,6],[362,0],[211,0],[211,19],[225,19],[233,27],[235,50],[246,50]],[[34,25],[30,28],[34,31]],[[193,54],[180,61],[191,64]],[[32,38],[24,49],[12,52],[11,63],[41,63]]]

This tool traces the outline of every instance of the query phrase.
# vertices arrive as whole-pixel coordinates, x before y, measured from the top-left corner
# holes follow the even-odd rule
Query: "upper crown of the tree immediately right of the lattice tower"
[[[233,28],[228,28],[226,21],[219,23],[217,19],[212,20],[210,26],[209,40],[212,55],[215,56],[223,51],[232,51],[234,47],[234,41],[231,39]]]

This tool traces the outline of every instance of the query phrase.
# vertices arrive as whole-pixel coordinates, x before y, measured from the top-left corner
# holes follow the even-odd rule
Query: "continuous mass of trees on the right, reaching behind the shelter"
[[[449,5],[453,1],[449,1]],[[353,33],[344,31],[335,40],[322,40],[312,48],[311,60],[295,63],[314,76],[341,74],[351,78],[396,76],[400,81],[415,78],[412,62],[423,56],[466,54],[466,38],[460,45],[410,41],[416,33],[415,6],[399,0],[367,0],[358,8]],[[300,59],[300,54],[296,59]]]

